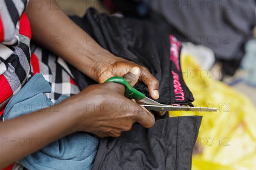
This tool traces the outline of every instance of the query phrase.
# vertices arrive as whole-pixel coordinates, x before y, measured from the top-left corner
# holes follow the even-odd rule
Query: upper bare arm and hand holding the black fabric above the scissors
[[[34,42],[62,57],[99,83],[105,82],[110,76],[122,77],[137,66],[141,70],[139,80],[147,85],[151,97],[158,99],[158,81],[147,68],[122,59],[122,56],[116,57],[102,48],[64,14],[55,0],[39,1],[42,8],[38,9],[35,6],[37,0],[32,0],[25,11]],[[54,43],[55,40],[57,43]]]

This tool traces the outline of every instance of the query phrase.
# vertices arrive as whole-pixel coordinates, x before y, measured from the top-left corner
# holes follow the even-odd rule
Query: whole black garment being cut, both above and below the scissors
[[[88,9],[83,18],[71,19],[103,48],[116,56],[148,68],[160,83],[158,102],[191,104],[194,100],[182,78],[181,70],[178,71],[175,63],[170,60],[169,35],[162,30],[133,19],[108,17],[97,13],[93,8]],[[71,65],[69,67],[81,90],[96,83]],[[172,71],[179,75],[180,86],[184,92],[183,101],[175,100],[177,94],[174,92]],[[149,97],[148,88],[143,83],[136,85],[135,88]],[[118,138],[103,138],[93,169],[189,170],[201,119],[201,116],[160,119],[150,129],[137,123]]]

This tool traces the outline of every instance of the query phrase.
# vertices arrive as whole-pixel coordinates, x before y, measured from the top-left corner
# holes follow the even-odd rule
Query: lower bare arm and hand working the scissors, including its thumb
[[[134,85],[140,74],[131,70],[123,77]],[[22,159],[50,142],[76,131],[94,133],[99,137],[120,136],[135,122],[146,128],[154,125],[154,116],[136,102],[124,96],[125,87],[118,83],[91,85],[54,107],[0,123],[0,168]],[[102,108],[89,107],[106,106]],[[107,107],[111,105],[112,107]],[[125,105],[125,107],[122,107]],[[87,107],[86,107],[87,106]],[[126,107],[128,106],[128,108]],[[15,140],[10,142],[10,140]],[[18,139],[26,139],[19,142]],[[40,140],[38,140],[40,139]],[[7,142],[6,142],[7,140]],[[12,154],[10,154],[12,153]],[[14,154],[15,153],[15,154]]]

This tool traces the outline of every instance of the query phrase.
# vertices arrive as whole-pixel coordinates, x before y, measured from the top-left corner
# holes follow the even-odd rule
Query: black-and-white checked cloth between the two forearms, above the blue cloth
[[[32,45],[32,48],[34,48],[34,46],[35,45]],[[39,73],[44,76],[52,87],[52,92],[46,94],[46,96],[51,99],[53,103],[55,103],[62,94],[72,96],[80,92],[79,87],[73,82],[73,75],[64,59],[41,47],[35,47],[33,54],[38,58]],[[33,54],[32,59],[34,57]],[[32,62],[31,72],[34,72],[33,67]]]

